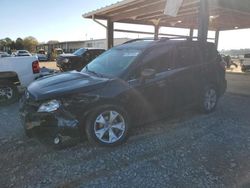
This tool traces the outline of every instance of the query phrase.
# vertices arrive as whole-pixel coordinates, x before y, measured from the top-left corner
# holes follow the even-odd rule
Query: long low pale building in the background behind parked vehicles
[[[129,38],[116,38],[114,39],[114,45],[122,44],[130,40]],[[93,39],[86,41],[66,41],[53,44],[39,44],[36,46],[36,50],[44,49],[46,52],[50,53],[52,49],[61,48],[65,53],[72,53],[79,48],[107,48],[106,39]]]

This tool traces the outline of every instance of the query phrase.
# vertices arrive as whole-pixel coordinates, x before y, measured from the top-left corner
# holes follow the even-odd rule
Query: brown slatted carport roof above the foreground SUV
[[[164,15],[166,0],[124,0],[86,13],[84,18],[119,23],[198,28],[199,0],[183,0],[176,17]],[[249,0],[208,0],[209,29],[232,30],[250,28]]]

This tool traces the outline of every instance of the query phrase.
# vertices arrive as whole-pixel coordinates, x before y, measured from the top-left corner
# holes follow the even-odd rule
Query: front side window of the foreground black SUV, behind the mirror
[[[156,47],[143,58],[143,69],[154,69],[156,73],[160,73],[172,68],[173,50],[169,47]]]

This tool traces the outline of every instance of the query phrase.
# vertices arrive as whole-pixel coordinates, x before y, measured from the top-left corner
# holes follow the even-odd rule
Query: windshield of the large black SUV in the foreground
[[[140,52],[137,49],[111,49],[94,59],[82,71],[116,77],[127,69]]]

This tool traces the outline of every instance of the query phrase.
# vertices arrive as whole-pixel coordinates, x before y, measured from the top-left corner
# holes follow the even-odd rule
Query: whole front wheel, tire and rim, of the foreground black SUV
[[[117,146],[128,137],[129,117],[118,106],[101,106],[92,111],[86,120],[88,140],[99,146]]]

